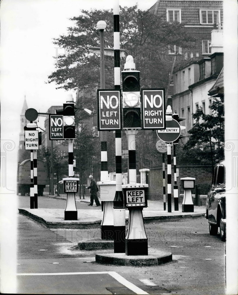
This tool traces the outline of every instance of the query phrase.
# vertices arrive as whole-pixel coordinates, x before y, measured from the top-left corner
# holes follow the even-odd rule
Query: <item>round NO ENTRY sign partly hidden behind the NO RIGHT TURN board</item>
[[[158,138],[164,142],[173,142],[177,140],[181,133],[181,128],[179,123],[172,119],[171,121],[166,121],[166,128],[163,130],[156,130]]]

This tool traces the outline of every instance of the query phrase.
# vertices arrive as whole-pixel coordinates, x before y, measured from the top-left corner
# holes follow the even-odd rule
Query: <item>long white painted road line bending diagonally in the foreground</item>
[[[73,273],[17,273],[17,276],[66,276],[66,275],[94,275],[94,274],[109,274],[119,283],[130,289],[131,291],[135,292],[136,294],[149,294],[142,289],[135,286],[133,283],[130,283],[125,278],[120,276],[115,271],[86,271],[86,272],[73,272]]]

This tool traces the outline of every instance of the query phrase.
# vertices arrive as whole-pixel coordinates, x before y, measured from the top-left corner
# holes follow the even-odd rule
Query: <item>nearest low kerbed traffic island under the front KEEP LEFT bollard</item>
[[[153,266],[172,261],[171,252],[153,251],[148,249],[148,255],[126,255],[125,253],[96,254],[95,262],[118,266]]]

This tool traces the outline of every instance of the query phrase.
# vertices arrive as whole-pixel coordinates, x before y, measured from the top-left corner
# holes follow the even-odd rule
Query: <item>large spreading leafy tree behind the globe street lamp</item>
[[[113,13],[96,9],[81,12],[71,19],[75,26],[68,28],[67,35],[54,39],[54,44],[66,48],[68,54],[58,56],[57,69],[49,75],[48,82],[66,90],[79,87],[93,93],[100,84],[100,56],[90,53],[89,47],[100,47],[96,24],[103,19],[107,23],[105,47],[113,48]],[[136,69],[141,71],[141,87],[166,87],[173,61],[168,56],[168,46],[173,44],[184,49],[193,41],[195,39],[185,32],[183,24],[165,22],[148,11],[141,11],[137,5],[120,7],[120,47],[133,55]],[[113,77],[114,57],[106,56],[106,89],[114,87]],[[92,99],[84,99],[81,98],[82,103],[90,106]]]

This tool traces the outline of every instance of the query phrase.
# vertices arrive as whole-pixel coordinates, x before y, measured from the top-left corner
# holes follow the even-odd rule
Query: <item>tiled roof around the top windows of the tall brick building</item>
[[[157,5],[156,5],[157,4]],[[220,9],[221,23],[223,23],[223,1],[222,0],[158,0],[149,10],[166,20],[166,9],[181,9],[181,20],[188,25],[199,25],[200,9]]]

